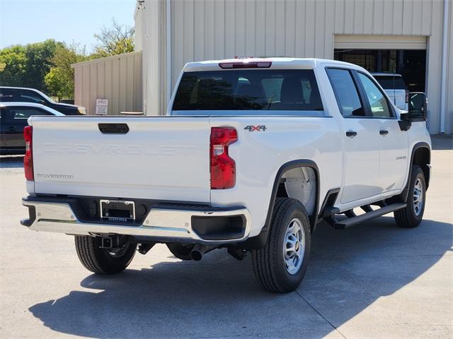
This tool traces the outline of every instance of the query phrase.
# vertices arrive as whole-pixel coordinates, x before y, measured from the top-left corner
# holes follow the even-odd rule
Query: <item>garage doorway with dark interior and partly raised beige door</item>
[[[335,35],[334,59],[369,72],[397,73],[411,92],[425,92],[426,37],[414,35]]]

